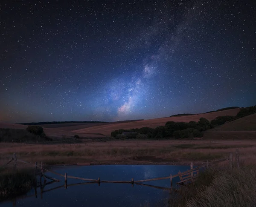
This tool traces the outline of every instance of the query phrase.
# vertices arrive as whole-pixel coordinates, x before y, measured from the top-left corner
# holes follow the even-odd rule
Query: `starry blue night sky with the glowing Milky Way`
[[[256,104],[255,0],[1,0],[0,121]]]

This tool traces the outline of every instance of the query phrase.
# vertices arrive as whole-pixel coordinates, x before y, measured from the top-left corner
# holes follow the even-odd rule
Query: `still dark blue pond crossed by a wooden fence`
[[[175,175],[179,171],[183,172],[189,169],[189,166],[173,165],[97,165],[54,167],[51,170],[81,178],[98,179],[100,177],[101,180],[119,181],[131,181],[131,178],[134,178],[136,181]],[[69,186],[86,182],[72,178],[67,178],[67,189],[65,189],[63,177],[49,172],[46,175],[61,181],[46,185],[43,193],[38,187],[37,198],[35,190],[31,190],[24,196],[0,203],[0,207],[145,207],[160,204],[161,201],[169,197],[169,192],[166,190],[137,184],[100,183],[98,185],[93,183]],[[179,177],[173,178],[173,187],[177,181],[179,181]],[[169,188],[170,180],[148,181],[144,184]]]

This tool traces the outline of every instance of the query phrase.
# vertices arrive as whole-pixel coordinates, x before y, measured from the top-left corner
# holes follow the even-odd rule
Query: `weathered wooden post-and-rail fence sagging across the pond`
[[[29,165],[32,165],[35,169],[35,175],[37,174],[38,170],[39,169],[39,175],[40,175],[40,185],[41,184],[41,180],[42,178],[44,178],[44,183],[47,182],[47,179],[49,180],[52,180],[52,181],[60,181],[59,179],[57,178],[52,178],[52,177],[49,177],[48,175],[45,175],[45,172],[49,172],[49,173],[53,173],[55,175],[59,175],[61,177],[64,177],[64,181],[65,181],[65,185],[64,187],[67,188],[67,178],[70,178],[70,179],[79,179],[79,180],[82,180],[82,181],[90,181],[90,183],[98,183],[100,185],[100,183],[129,183],[129,184],[140,184],[142,185],[143,182],[147,182],[147,181],[157,181],[157,180],[164,180],[164,179],[169,179],[170,180],[170,186],[172,188],[172,179],[173,178],[176,178],[176,177],[179,177],[180,178],[180,181],[177,182],[176,184],[180,184],[180,185],[184,185],[188,182],[193,182],[195,181],[196,178],[198,178],[198,174],[199,174],[199,171],[200,169],[208,169],[209,167],[213,166],[214,164],[216,163],[219,163],[219,162],[223,162],[223,161],[227,161],[229,160],[229,168],[232,169],[234,167],[234,164],[233,164],[233,153],[230,152],[230,155],[228,158],[224,158],[224,159],[221,159],[221,160],[217,160],[217,161],[212,161],[209,163],[209,161],[206,161],[204,163],[204,165],[200,166],[200,167],[195,167],[193,168],[193,162],[190,163],[190,170],[186,170],[184,172],[179,172],[175,175],[168,175],[166,177],[158,177],[158,178],[150,178],[150,179],[144,179],[144,180],[137,180],[137,181],[134,181],[134,178],[131,178],[131,180],[129,181],[107,181],[107,180],[101,180],[100,178],[98,179],[90,179],[90,178],[80,178],[80,177],[76,177],[76,176],[71,176],[71,175],[67,175],[67,173],[64,173],[64,175],[60,174],[60,173],[56,173],[52,170],[49,170],[49,169],[46,169],[44,168],[43,166],[43,162],[41,162],[41,165],[38,166],[38,163],[35,162],[35,164],[30,164],[26,161],[23,161],[23,160],[19,160],[17,159],[17,156],[16,156],[16,153],[13,154],[13,157],[10,158],[10,160],[4,165],[4,166],[7,166],[8,164],[10,164],[12,161],[14,161],[14,169],[16,169],[16,165],[17,165],[17,162],[21,162],[21,163],[24,163],[24,164],[29,164]],[[235,166],[236,168],[239,168],[239,150],[237,149],[236,150],[236,163],[235,163]],[[227,168],[227,167],[224,167],[224,168]],[[222,169],[224,169],[222,168]],[[145,185],[145,184],[143,184]],[[150,185],[148,185],[150,186]]]

